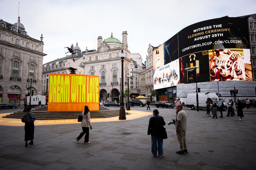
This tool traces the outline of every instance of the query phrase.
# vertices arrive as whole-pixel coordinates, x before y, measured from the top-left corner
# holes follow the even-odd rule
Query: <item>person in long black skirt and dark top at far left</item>
[[[24,112],[24,111],[23,111]],[[34,139],[34,129],[35,125],[34,122],[36,120],[36,115],[31,112],[31,107],[27,107],[27,110],[22,118],[21,122],[25,123],[25,147],[28,147],[28,141],[30,140],[30,145],[34,144],[33,139]]]

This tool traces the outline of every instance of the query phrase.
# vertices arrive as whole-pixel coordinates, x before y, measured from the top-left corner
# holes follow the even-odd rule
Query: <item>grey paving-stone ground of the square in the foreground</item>
[[[155,108],[131,107],[131,112],[152,113]],[[166,124],[175,116],[175,108],[158,110]],[[211,119],[204,110],[184,110],[188,117],[186,155],[176,154],[179,143],[171,124],[165,126],[169,137],[164,139],[164,157],[152,157],[147,135],[152,114],[146,113],[133,120],[93,122],[90,144],[84,144],[84,137],[76,142],[82,131],[78,123],[36,125],[34,145],[28,147],[24,124],[0,125],[0,170],[256,169],[256,108],[244,109],[243,121],[237,116]]]

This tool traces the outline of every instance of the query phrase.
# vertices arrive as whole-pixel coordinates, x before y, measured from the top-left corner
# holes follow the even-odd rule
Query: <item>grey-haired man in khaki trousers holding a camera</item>
[[[187,130],[187,114],[182,110],[182,105],[178,104],[176,106],[176,132],[177,139],[180,143],[180,151],[177,151],[177,154],[185,155],[188,153],[187,144],[186,144],[186,130]]]

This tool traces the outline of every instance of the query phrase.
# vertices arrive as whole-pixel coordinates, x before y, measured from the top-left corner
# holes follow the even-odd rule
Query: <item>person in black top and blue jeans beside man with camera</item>
[[[157,109],[153,110],[153,116],[149,118],[148,135],[151,135],[151,152],[156,157],[157,151],[159,158],[164,156],[163,139],[159,136],[160,127],[165,125],[164,118],[158,115]]]

